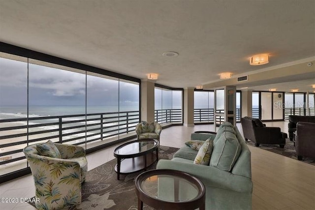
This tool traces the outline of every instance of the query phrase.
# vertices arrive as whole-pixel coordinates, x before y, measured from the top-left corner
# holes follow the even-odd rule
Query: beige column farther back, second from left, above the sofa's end
[[[194,88],[184,89],[184,125],[188,127],[194,126],[193,123],[194,109]]]

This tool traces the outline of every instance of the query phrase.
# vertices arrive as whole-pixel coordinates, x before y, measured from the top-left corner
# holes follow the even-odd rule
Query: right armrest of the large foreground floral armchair
[[[85,150],[83,147],[58,143],[54,143],[54,145],[60,151],[61,156],[64,159],[72,157],[85,157]]]

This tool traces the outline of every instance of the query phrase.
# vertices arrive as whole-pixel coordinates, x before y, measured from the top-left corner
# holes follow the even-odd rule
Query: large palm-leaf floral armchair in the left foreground
[[[48,143],[51,145],[48,145]],[[29,162],[35,184],[39,210],[63,209],[81,203],[81,183],[85,181],[88,162],[85,150],[79,146],[56,144],[49,141],[23,149]],[[44,147],[42,147],[44,146]],[[40,155],[43,150],[57,148],[57,158]]]

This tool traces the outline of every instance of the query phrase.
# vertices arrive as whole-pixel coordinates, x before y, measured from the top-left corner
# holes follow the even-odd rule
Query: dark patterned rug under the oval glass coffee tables
[[[159,159],[172,159],[173,154],[179,150],[160,146],[158,150]],[[137,210],[138,197],[135,192],[134,179],[143,171],[120,175],[114,170],[117,160],[111,160],[88,172],[86,181],[82,185],[82,203],[68,208],[68,210]],[[155,169],[157,162],[148,167],[147,170]],[[34,203],[30,203],[35,206]],[[144,204],[144,210],[153,208]]]

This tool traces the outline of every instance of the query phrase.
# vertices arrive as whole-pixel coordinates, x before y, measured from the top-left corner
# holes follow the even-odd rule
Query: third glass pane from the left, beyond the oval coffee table
[[[87,149],[119,138],[118,85],[116,78],[87,75]]]

